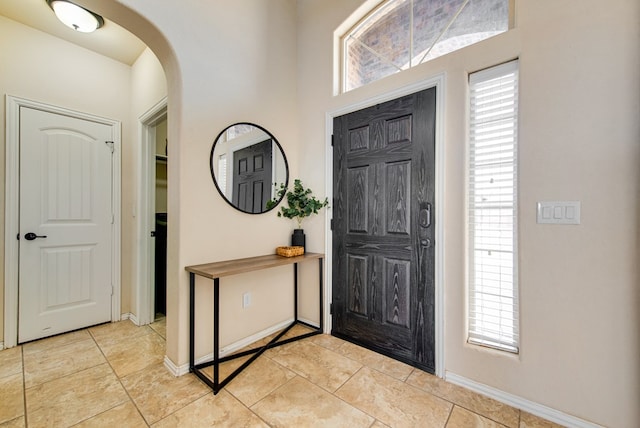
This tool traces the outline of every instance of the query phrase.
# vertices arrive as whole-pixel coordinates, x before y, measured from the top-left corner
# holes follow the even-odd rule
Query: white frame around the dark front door
[[[333,135],[333,119],[338,116],[353,113],[367,107],[374,106],[405,95],[420,92],[429,88],[436,88],[436,135],[435,135],[435,374],[444,377],[444,178],[445,178],[445,158],[444,158],[444,93],[446,85],[446,75],[438,74],[430,79],[403,86],[384,94],[367,98],[344,107],[331,110],[325,114],[325,138],[326,138],[326,195],[329,200],[333,200],[333,147],[331,137]],[[333,218],[333,207],[329,206],[329,215],[325,217],[325,253],[328,263],[325,263],[325,308],[330,308],[333,300],[332,278],[333,278],[333,233],[331,230],[331,219]],[[324,313],[324,325],[327,333],[331,332],[332,320],[329,310]]]

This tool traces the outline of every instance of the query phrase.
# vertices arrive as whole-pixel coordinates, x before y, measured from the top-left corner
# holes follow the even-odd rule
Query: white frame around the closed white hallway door
[[[25,98],[6,96],[6,158],[5,158],[5,235],[4,235],[4,347],[18,344],[18,291],[19,291],[19,241],[15,236],[20,229],[20,108],[28,107],[49,113],[61,114],[81,120],[90,120],[110,126],[112,129],[114,154],[111,181],[114,221],[111,227],[112,264],[111,277],[111,321],[120,320],[121,305],[121,141],[120,121],[58,107]]]

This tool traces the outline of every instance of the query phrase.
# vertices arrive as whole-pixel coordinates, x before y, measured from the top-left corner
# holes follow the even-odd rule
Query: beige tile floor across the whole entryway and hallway
[[[164,337],[164,320],[121,321],[0,351],[0,427],[558,426],[328,335],[268,350],[214,396],[167,371]]]

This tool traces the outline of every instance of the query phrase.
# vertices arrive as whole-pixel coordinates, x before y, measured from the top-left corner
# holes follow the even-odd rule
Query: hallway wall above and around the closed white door
[[[131,129],[130,67],[51,37],[0,16],[0,195],[4,201],[5,95],[87,112],[122,122],[123,146]],[[123,156],[123,163],[127,163]],[[127,174],[123,170],[123,174]],[[126,182],[123,182],[126,183]],[[123,199],[124,202],[124,199]],[[4,230],[4,210],[0,212]],[[126,230],[127,225],[123,225]],[[9,233],[9,232],[7,232]],[[17,233],[11,231],[11,233]],[[0,234],[4,242],[4,233]],[[123,274],[131,270],[130,257],[123,257]],[[0,249],[0,281],[4,296],[4,244]],[[129,311],[130,292],[123,281],[122,309]],[[4,302],[0,306],[0,337],[4,336]],[[2,341],[2,339],[0,339]]]

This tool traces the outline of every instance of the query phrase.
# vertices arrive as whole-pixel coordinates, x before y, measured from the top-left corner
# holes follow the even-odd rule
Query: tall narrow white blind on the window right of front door
[[[518,61],[469,87],[469,342],[518,352]]]

